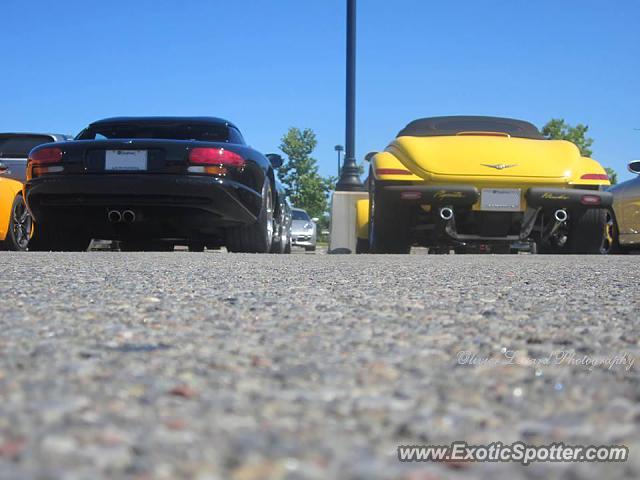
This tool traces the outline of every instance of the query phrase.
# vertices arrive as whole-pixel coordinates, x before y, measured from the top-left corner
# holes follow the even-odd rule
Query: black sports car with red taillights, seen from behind
[[[31,250],[290,249],[291,211],[276,154],[248,147],[211,117],[126,117],[92,123],[73,141],[34,148],[26,200]]]

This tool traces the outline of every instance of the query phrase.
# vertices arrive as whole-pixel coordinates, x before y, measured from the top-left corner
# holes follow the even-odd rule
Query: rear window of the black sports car
[[[200,142],[228,142],[226,125],[95,125],[83,130],[77,140],[108,140],[120,138],[148,138],[160,140],[194,140]]]

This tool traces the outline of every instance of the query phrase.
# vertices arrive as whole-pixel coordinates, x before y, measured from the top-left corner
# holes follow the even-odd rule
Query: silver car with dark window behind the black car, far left
[[[56,133],[0,133],[0,161],[9,167],[5,177],[24,183],[29,152],[44,143],[67,140],[73,137]]]

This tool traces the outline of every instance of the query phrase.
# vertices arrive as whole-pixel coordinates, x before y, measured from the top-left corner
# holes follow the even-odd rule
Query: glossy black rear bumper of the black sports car
[[[220,225],[252,223],[261,195],[238,182],[197,175],[60,175],[39,177],[26,184],[26,199],[36,221],[77,214],[106,212],[188,212]],[[106,213],[101,216],[106,221]]]

